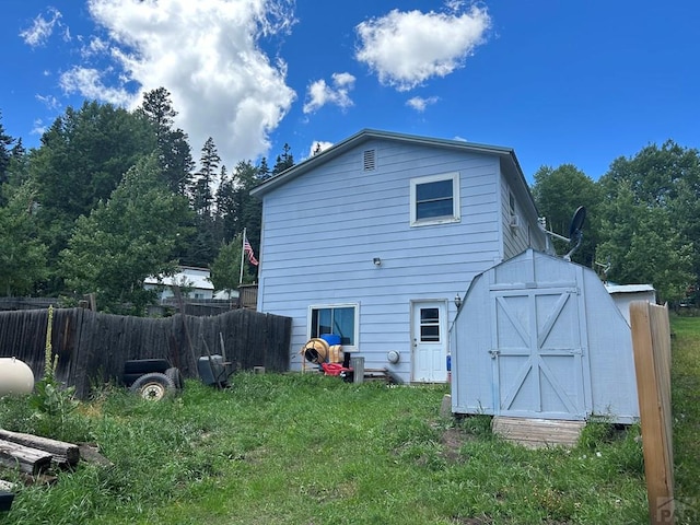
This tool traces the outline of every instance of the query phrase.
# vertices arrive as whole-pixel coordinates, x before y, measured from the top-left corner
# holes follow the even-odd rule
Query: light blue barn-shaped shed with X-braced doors
[[[630,326],[596,273],[527,249],[478,275],[452,328],[452,411],[630,423]]]

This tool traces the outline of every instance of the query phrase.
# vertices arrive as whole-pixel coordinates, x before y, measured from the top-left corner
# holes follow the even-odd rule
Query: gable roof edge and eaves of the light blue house
[[[376,129],[363,129],[355,135],[334,144],[327,150],[322,151],[320,153],[306,159],[305,161],[295,164],[294,166],[283,171],[282,173],[268,178],[265,183],[259,186],[253,188],[250,190],[250,195],[262,196],[272,189],[276,189],[288,182],[303,175],[304,173],[314,170],[315,167],[335,159],[348,150],[355,148],[357,145],[362,144],[372,139],[382,139],[382,140],[392,140],[397,142],[406,142],[413,143],[419,145],[429,145],[434,148],[445,148],[451,150],[465,151],[469,153],[486,153],[491,155],[497,155],[502,160],[505,160],[512,166],[512,171],[515,172],[525,188],[527,188],[527,183],[525,182],[525,177],[523,176],[523,171],[521,170],[520,163],[515,158],[515,151],[512,148],[503,148],[499,145],[488,145],[488,144],[477,144],[474,142],[465,142],[462,140],[447,140],[447,139],[435,139],[430,137],[419,137],[415,135],[404,135],[404,133],[395,133],[390,131],[380,131]]]

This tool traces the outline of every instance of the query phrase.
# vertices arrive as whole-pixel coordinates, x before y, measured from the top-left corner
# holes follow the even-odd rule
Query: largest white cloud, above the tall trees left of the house
[[[289,112],[294,91],[287,65],[258,46],[289,32],[294,0],[89,0],[106,31],[82,48],[116,68],[74,67],[61,77],[70,93],[133,108],[165,88],[189,136],[192,156],[212,137],[224,164],[255,160]],[[96,62],[93,62],[93,66]],[[138,86],[135,93],[132,86]]]

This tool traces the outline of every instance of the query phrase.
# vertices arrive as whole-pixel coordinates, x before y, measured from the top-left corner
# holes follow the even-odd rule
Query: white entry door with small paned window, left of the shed
[[[411,303],[412,381],[447,381],[447,319],[445,301]]]

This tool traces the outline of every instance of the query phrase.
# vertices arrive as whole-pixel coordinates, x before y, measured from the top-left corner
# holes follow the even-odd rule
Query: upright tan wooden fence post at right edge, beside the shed
[[[630,303],[646,495],[652,524],[674,521],[668,308]],[[660,510],[663,510],[663,515]],[[670,520],[670,521],[669,521]]]

